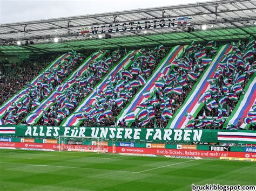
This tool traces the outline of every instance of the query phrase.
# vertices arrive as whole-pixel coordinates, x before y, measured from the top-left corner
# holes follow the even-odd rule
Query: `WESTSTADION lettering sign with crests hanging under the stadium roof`
[[[138,31],[138,30],[151,30],[151,29],[162,29],[162,28],[175,28],[175,27],[186,27],[190,26],[190,17],[179,17],[171,19],[154,19],[144,20],[139,22],[126,22],[116,23],[103,26],[95,26],[88,29],[83,27],[79,34],[103,34],[103,33],[114,33],[114,32],[125,32],[125,31]]]

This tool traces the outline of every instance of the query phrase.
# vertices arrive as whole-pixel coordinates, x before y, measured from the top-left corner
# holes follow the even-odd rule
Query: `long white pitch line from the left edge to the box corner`
[[[0,161],[1,162],[1,161]],[[17,162],[3,162],[3,163],[9,163],[9,164],[23,164],[23,163],[17,163]],[[91,169],[91,170],[99,170],[99,171],[111,171],[111,172],[125,172],[125,173],[138,173],[133,171],[118,171],[118,170],[111,170],[111,169],[102,169],[102,168],[86,168],[86,167],[76,167],[76,166],[57,166],[57,165],[35,165],[35,164],[27,164],[24,163],[25,167],[59,167],[59,168],[76,168],[76,169]]]

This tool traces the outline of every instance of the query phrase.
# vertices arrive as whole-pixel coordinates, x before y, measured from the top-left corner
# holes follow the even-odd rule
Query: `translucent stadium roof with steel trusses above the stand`
[[[95,27],[113,23],[142,22],[161,18],[191,17],[187,29],[150,29],[111,33],[111,38],[99,39],[96,34],[79,34],[82,27]],[[201,27],[207,25],[206,30]],[[163,6],[95,15],[35,20],[0,25],[0,53],[22,54],[181,44],[191,41],[236,40],[256,36],[256,1],[217,1]],[[54,38],[58,43],[53,43]],[[25,41],[34,44],[25,45]],[[22,45],[17,45],[21,41]]]

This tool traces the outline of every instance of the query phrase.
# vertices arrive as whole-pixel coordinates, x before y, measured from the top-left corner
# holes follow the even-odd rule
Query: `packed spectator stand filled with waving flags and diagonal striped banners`
[[[253,37],[220,47],[193,42],[125,55],[119,49],[87,57],[71,51],[48,66],[49,57],[39,61],[35,70],[22,63],[11,71],[15,80],[4,80],[2,125],[254,128]]]

